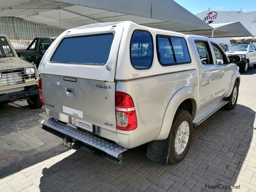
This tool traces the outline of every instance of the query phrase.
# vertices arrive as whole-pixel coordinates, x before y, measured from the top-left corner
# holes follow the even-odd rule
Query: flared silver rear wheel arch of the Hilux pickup
[[[197,111],[197,95],[192,87],[182,87],[176,91],[170,99],[164,113],[163,124],[157,140],[165,140],[171,130],[172,121],[178,108],[189,110],[192,119],[196,116]],[[192,108],[191,108],[192,105]],[[189,107],[190,106],[190,107]]]

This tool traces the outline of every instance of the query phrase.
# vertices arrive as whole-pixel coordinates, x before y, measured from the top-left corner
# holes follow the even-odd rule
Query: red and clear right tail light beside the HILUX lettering
[[[132,97],[124,92],[116,92],[117,129],[131,131],[137,128],[137,116]]]

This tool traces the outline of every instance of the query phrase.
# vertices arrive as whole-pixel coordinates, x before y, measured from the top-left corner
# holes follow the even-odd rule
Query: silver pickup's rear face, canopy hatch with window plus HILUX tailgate
[[[122,33],[121,26],[86,33],[71,29],[53,42],[40,75],[49,116],[116,131],[115,73]]]

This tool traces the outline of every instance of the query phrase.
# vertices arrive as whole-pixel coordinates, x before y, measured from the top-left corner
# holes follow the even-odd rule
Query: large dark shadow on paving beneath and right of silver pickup
[[[140,147],[125,151],[122,165],[80,149],[44,168],[39,188],[41,191],[213,191],[211,186],[222,186],[219,191],[231,191],[240,184],[245,167],[254,164],[250,160],[255,146],[251,142],[256,129],[254,121],[255,111],[243,105],[237,104],[231,111],[220,109],[194,130],[187,156],[174,165],[148,160]],[[242,175],[240,179],[238,174]],[[243,186],[240,190],[244,191]]]

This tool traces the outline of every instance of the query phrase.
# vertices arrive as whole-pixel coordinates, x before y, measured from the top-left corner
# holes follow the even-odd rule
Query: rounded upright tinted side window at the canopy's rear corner
[[[147,31],[135,31],[130,46],[131,62],[134,68],[150,68],[153,61],[152,36]]]

